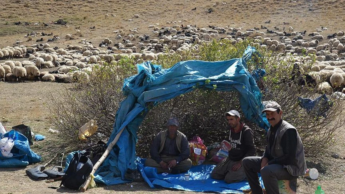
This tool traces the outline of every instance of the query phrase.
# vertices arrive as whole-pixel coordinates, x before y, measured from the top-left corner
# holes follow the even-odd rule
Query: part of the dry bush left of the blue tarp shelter
[[[122,58],[117,63],[105,63],[94,67],[87,83],[73,83],[59,96],[48,102],[51,123],[68,141],[79,143],[79,128],[89,120],[97,120],[95,140],[107,140],[115,120],[115,113],[124,100],[122,85],[125,78],[136,73],[134,59]]]

